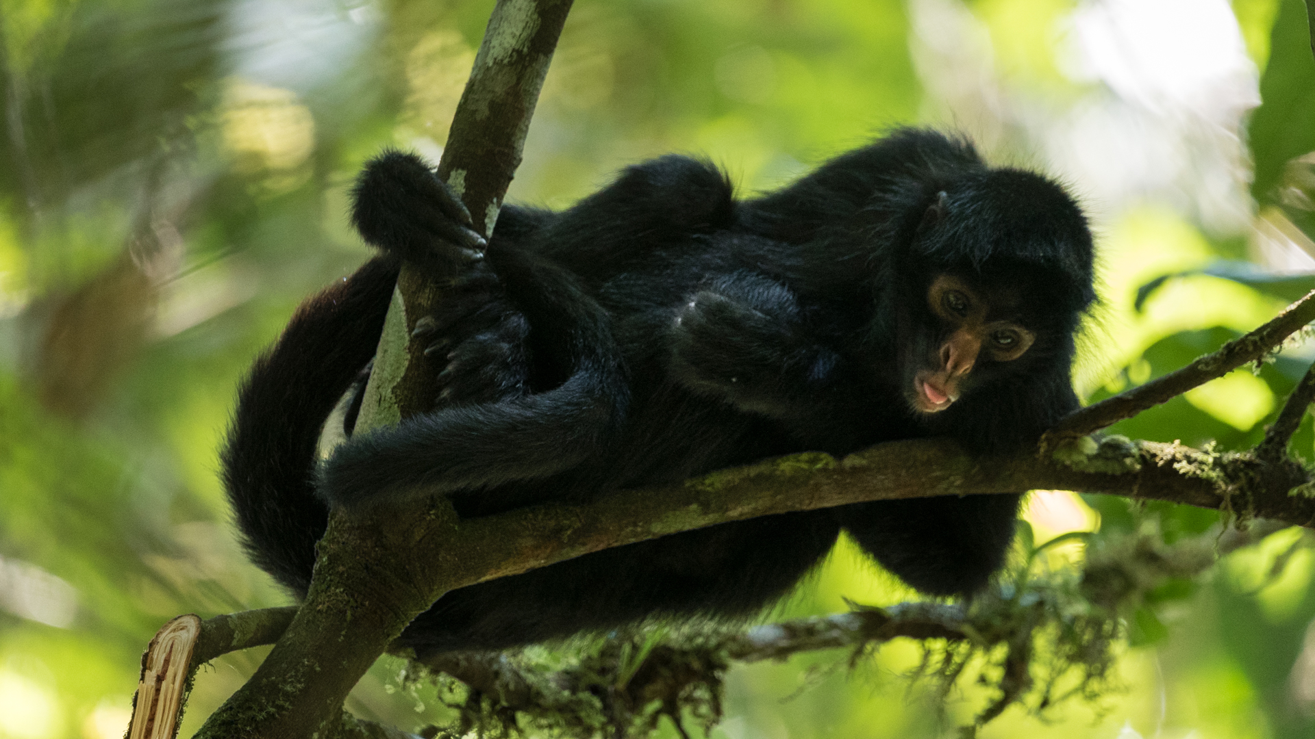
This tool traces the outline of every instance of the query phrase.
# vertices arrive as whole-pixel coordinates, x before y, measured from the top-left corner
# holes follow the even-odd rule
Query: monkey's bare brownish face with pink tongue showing
[[[901,351],[905,396],[922,413],[945,410],[984,376],[1018,360],[1036,342],[1019,322],[1019,296],[936,275],[926,312],[914,310]]]

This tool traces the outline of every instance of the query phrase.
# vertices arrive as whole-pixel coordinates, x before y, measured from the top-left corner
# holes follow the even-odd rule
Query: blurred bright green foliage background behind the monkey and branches
[[[0,738],[118,738],[166,619],[289,602],[243,559],[216,479],[234,385],[367,256],[346,218],[364,160],[437,162],[490,8],[0,0]],[[564,206],[667,151],[748,195],[899,124],[964,131],[1082,200],[1103,298],[1088,400],[1315,287],[1301,0],[577,0],[509,197]],[[1245,448],[1312,359],[1294,346],[1120,430]],[[1294,451],[1315,458],[1310,418]],[[1147,519],[1172,540],[1218,514],[1040,492],[1027,519],[1036,540]],[[1124,690],[982,735],[1312,736],[1312,575],[1297,530],[1237,551],[1137,611]],[[842,542],[773,617],[910,597]],[[263,654],[199,675],[183,736]],[[918,659],[892,643],[853,671],[736,668],[714,736],[945,735],[984,696],[938,717],[902,677]],[[402,667],[381,660],[348,707],[405,730],[448,715]]]

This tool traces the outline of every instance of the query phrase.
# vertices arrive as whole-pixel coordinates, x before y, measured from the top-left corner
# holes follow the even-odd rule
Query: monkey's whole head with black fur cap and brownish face
[[[1063,376],[1093,302],[1091,235],[1051,180],[988,170],[919,210],[896,275],[902,393],[919,414],[986,385]]]

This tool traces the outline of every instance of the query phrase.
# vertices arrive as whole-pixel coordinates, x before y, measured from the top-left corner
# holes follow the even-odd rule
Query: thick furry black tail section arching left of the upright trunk
[[[321,427],[373,356],[396,281],[397,262],[376,258],[305,301],[238,391],[220,452],[229,502],[251,560],[299,593],[327,525],[314,494]]]

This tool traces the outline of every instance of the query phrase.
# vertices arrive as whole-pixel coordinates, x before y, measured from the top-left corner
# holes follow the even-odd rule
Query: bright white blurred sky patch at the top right
[[[1247,231],[1240,129],[1260,74],[1228,3],[1095,0],[1064,25],[1061,68],[1109,92],[1039,126],[1059,170],[1111,213],[1151,200],[1207,230]]]

